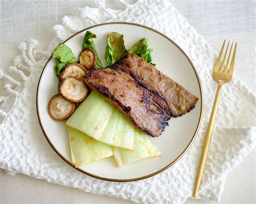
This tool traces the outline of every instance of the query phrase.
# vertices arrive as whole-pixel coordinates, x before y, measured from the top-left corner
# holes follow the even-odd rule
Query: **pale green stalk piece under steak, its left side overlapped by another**
[[[114,109],[100,142],[133,150],[134,126],[124,114]]]

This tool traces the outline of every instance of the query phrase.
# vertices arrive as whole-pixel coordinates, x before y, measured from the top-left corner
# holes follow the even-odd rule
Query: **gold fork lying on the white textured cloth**
[[[214,122],[215,122],[215,116],[216,116],[216,112],[218,109],[221,87],[224,83],[228,83],[231,81],[233,71],[234,71],[234,61],[235,61],[235,52],[237,50],[237,43],[235,43],[230,68],[228,69],[228,63],[230,62],[230,56],[231,56],[231,52],[232,52],[233,43],[230,48],[230,53],[228,54],[228,57],[227,57],[226,66],[224,66],[226,56],[227,56],[228,46],[230,45],[230,41],[228,41],[227,48],[226,48],[226,51],[224,54],[224,58],[222,60],[221,66],[220,66],[221,56],[223,54],[225,43],[226,43],[226,40],[224,40],[223,46],[221,47],[219,57],[214,66],[214,69],[213,69],[213,79],[214,79],[214,81],[216,81],[218,83],[218,88],[216,91],[211,116],[210,116],[209,123],[208,123],[207,130],[206,130],[205,143],[203,146],[203,151],[201,153],[201,159],[200,159],[199,169],[198,169],[198,173],[197,173],[196,184],[194,185],[194,192],[193,192],[194,197],[197,196],[201,178],[202,178],[202,174],[203,174],[204,167],[205,167],[205,161],[206,161],[207,153],[208,153],[210,142],[211,142],[212,130],[213,130]]]

